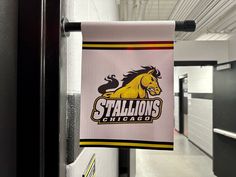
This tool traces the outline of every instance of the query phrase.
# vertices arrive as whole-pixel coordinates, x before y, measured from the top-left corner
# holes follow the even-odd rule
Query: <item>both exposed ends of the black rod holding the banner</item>
[[[65,32],[81,31],[81,22],[66,22],[64,24]],[[193,32],[196,29],[194,20],[175,21],[175,31]]]

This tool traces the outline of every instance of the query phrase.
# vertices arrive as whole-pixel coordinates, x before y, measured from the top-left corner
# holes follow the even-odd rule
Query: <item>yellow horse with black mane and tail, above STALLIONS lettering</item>
[[[98,88],[99,93],[105,98],[148,98],[149,95],[157,96],[161,93],[158,79],[161,73],[153,66],[142,66],[140,70],[129,71],[122,79],[122,86],[119,86],[115,75],[105,78],[106,84]],[[116,88],[116,89],[115,89]],[[114,91],[107,91],[115,89]]]

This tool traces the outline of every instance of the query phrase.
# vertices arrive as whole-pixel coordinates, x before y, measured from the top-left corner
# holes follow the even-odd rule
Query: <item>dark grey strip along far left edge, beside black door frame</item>
[[[16,176],[17,0],[0,1],[0,176]]]

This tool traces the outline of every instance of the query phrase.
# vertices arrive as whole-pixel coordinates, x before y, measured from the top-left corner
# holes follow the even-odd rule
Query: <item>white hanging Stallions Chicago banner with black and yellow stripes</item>
[[[173,150],[175,23],[81,28],[80,146]]]

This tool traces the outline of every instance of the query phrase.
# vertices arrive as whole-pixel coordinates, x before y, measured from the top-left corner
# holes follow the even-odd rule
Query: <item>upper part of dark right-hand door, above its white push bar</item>
[[[232,68],[214,71],[214,126],[236,132],[236,61]]]

